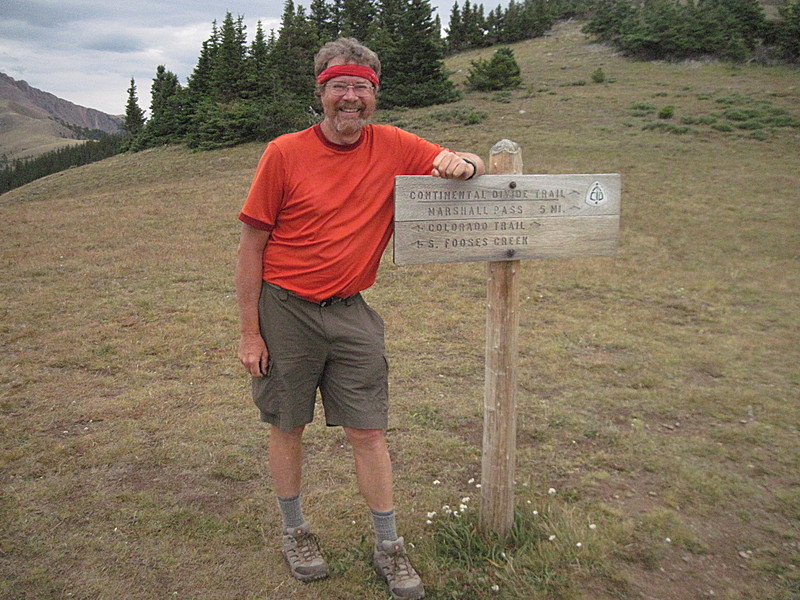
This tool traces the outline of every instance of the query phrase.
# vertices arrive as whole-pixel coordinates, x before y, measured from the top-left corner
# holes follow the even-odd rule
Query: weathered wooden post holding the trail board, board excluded
[[[488,170],[493,175],[521,175],[519,144],[510,140],[495,144]],[[507,252],[509,258],[514,255],[513,249]],[[481,526],[501,535],[508,533],[514,521],[519,264],[519,260],[487,263]]]

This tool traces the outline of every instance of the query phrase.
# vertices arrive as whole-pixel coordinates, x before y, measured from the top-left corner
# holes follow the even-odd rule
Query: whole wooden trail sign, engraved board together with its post
[[[492,148],[488,170],[474,181],[396,177],[394,262],[488,262],[481,526],[505,535],[514,519],[519,261],[614,254],[621,181],[522,175],[509,140]]]

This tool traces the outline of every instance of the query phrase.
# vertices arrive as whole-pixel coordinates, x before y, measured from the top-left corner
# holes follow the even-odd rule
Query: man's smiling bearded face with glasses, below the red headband
[[[343,64],[341,59],[332,59],[328,66]],[[320,100],[325,113],[322,123],[323,132],[332,141],[338,144],[352,144],[361,136],[361,129],[369,122],[375,112],[377,99],[375,90],[372,89],[366,96],[357,96],[352,87],[347,88],[343,96],[337,96],[332,91],[333,84],[368,85],[372,84],[361,77],[341,75],[325,83]]]

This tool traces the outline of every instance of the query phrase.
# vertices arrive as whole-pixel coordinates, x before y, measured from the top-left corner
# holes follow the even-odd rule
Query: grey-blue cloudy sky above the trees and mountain
[[[452,4],[431,2],[445,26]],[[508,3],[483,2],[487,12],[498,4]],[[266,33],[278,30],[283,0],[0,0],[0,71],[116,115],[125,112],[133,77],[147,110],[158,65],[185,84],[212,22],[227,12],[244,17],[249,43],[259,20]]]

